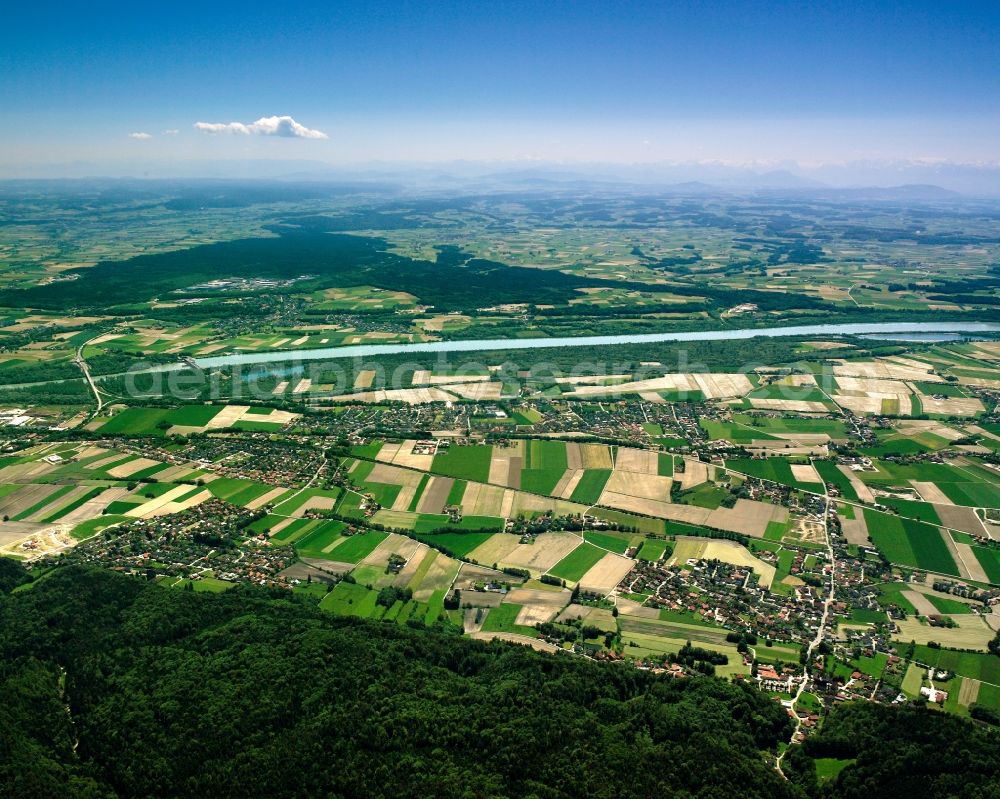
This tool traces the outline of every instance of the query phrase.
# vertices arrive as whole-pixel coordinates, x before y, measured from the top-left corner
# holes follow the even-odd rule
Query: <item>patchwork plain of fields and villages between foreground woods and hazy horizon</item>
[[[740,676],[802,730],[1000,710],[997,331],[554,341],[989,322],[984,208],[154,189],[102,190],[128,238],[0,228],[0,554]]]

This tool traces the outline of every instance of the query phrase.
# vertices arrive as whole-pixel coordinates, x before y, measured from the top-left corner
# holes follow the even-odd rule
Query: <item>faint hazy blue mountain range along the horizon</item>
[[[659,191],[677,194],[779,192],[833,201],[947,201],[1000,198],[1000,165],[925,161],[856,161],[802,166],[719,162],[610,164],[472,162],[365,163],[226,160],[143,163],[75,162],[6,167],[0,179],[132,177],[258,179],[381,184],[402,191]]]

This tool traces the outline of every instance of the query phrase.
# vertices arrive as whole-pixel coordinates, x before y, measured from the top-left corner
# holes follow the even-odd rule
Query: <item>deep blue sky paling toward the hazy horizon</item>
[[[1000,160],[998,34],[996,2],[22,3],[0,161]],[[327,138],[194,127],[285,115]]]

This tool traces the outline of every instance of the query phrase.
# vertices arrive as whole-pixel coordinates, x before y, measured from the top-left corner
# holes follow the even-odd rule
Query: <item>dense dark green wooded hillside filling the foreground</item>
[[[284,593],[0,577],[3,796],[1000,796],[995,738],[932,711],[838,709],[786,782],[764,755],[790,733],[783,709],[722,680]],[[857,763],[817,789],[812,755]]]

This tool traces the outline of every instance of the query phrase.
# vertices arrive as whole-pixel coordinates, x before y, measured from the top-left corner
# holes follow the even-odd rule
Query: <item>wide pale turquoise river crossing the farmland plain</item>
[[[866,336],[905,338],[901,333],[992,333],[1000,324],[991,322],[872,322],[842,325],[800,325],[799,327],[762,327],[747,330],[696,330],[686,333],[639,333],[622,336],[563,336],[560,338],[491,338],[469,341],[429,341],[420,344],[356,344],[312,350],[276,350],[241,352],[211,358],[195,358],[203,369],[220,366],[279,363],[287,361],[326,361],[334,358],[368,358],[375,355],[399,355],[407,352],[481,352],[485,350],[529,350],[542,347],[606,347],[615,344],[655,344],[661,341],[738,341],[757,337],[784,336]]]

